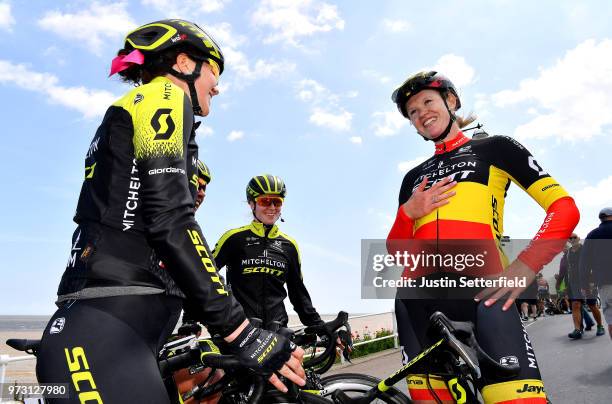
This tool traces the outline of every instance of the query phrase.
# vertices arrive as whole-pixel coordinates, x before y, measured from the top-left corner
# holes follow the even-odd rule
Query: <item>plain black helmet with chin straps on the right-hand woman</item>
[[[430,89],[436,90],[440,92],[442,96],[442,100],[444,101],[444,105],[450,114],[450,120],[448,121],[448,126],[442,132],[442,134],[434,139],[428,139],[423,136],[425,140],[431,140],[433,142],[440,141],[448,136],[450,132],[450,128],[453,122],[456,119],[453,111],[450,110],[448,104],[446,103],[446,93],[452,93],[457,99],[457,108],[461,108],[461,100],[459,99],[459,95],[457,94],[457,89],[452,81],[450,81],[446,76],[436,72],[436,71],[422,71],[412,76],[408,77],[406,81],[402,83],[401,86],[395,89],[393,94],[391,94],[391,100],[397,105],[397,109],[401,112],[401,114],[406,118],[410,119],[408,116],[408,111],[406,111],[406,103],[413,95],[417,94],[420,91]]]

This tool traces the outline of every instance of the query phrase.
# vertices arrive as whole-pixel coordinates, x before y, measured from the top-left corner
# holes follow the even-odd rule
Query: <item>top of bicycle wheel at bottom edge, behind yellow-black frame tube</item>
[[[373,376],[360,375],[357,373],[339,373],[326,376],[321,379],[324,388],[324,397],[330,397],[334,391],[342,390],[349,397],[359,397],[376,387],[380,379]],[[409,404],[412,401],[404,393],[391,387],[382,397],[372,401],[373,403]]]

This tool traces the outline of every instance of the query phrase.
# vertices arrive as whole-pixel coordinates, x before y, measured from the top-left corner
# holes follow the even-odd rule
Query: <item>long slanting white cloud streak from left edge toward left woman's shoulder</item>
[[[25,65],[0,60],[0,83],[43,94],[53,103],[79,111],[85,118],[104,115],[109,105],[117,98],[108,91],[82,86],[63,87],[58,82],[57,77],[52,74],[38,73]]]

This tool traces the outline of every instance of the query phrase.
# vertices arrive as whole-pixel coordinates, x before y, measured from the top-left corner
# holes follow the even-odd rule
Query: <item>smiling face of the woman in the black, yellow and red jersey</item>
[[[448,107],[455,110],[457,99],[449,94]],[[406,111],[417,132],[428,139],[440,136],[450,119],[441,94],[436,90],[422,90],[410,97],[406,102]]]

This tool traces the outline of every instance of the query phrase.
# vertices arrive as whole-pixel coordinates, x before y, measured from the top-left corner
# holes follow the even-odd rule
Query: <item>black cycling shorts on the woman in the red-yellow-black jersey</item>
[[[475,325],[479,345],[499,363],[519,363],[521,371],[512,380],[541,380],[529,335],[525,331],[516,307],[502,311],[505,299],[492,307],[473,300],[395,300],[395,315],[402,362],[404,364],[433,344],[427,336],[429,317],[441,311],[452,321],[471,321]],[[501,382],[484,373],[485,385]],[[507,381],[507,380],[504,380]]]

